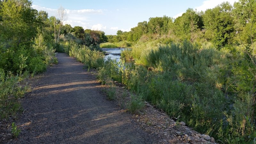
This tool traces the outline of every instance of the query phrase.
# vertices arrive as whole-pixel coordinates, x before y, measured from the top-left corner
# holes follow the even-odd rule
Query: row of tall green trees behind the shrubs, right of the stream
[[[212,42],[218,48],[237,42],[251,44],[256,34],[256,26],[251,24],[254,9],[247,0],[240,0],[234,6],[224,2],[205,12],[189,8],[176,19],[164,15],[139,22],[129,32],[118,30],[116,36],[107,36],[108,42],[138,42],[168,37],[165,43],[187,39],[191,42]]]

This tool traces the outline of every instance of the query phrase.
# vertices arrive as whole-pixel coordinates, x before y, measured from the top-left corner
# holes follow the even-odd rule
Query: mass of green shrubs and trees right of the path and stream
[[[255,143],[255,1],[155,17],[108,42],[132,43],[123,83],[223,143]],[[114,78],[112,76],[112,78]]]

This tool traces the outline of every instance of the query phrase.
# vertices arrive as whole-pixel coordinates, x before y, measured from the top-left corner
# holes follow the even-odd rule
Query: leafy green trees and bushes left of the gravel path
[[[29,90],[22,80],[56,64],[55,52],[64,52],[65,40],[95,50],[107,42],[104,32],[63,25],[61,15],[48,17],[31,4],[29,0],[0,1],[0,119],[15,118],[22,109],[17,99]]]

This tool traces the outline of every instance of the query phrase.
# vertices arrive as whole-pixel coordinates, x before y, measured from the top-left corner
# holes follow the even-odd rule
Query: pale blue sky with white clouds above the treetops
[[[62,6],[67,12],[64,24],[116,35],[117,30],[130,31],[150,17],[177,18],[188,8],[200,12],[225,1],[233,5],[238,0],[32,0],[32,7],[58,18]]]

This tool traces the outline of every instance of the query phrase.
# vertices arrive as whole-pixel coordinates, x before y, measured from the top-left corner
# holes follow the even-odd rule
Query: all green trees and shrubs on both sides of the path
[[[56,63],[56,51],[97,68],[102,84],[125,84],[133,92],[131,112],[147,100],[220,143],[255,143],[255,21],[255,0],[240,0],[205,12],[188,9],[176,19],[149,18],[105,36],[62,25],[27,0],[0,2],[1,118],[19,110],[15,100],[25,89],[19,82]],[[136,65],[104,60],[99,44],[131,47],[121,55]]]

